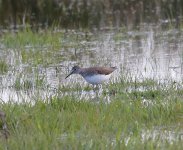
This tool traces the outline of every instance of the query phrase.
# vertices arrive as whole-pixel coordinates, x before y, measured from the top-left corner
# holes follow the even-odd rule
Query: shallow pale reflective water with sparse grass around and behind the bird
[[[71,40],[72,35],[75,38]],[[49,45],[27,45],[23,49],[41,49],[41,55],[51,63],[34,65],[34,59],[23,62],[19,48],[1,44],[0,58],[10,65],[8,72],[0,75],[1,101],[32,101],[37,97],[45,99],[58,93],[61,96],[68,95],[70,91],[59,92],[59,88],[77,89],[76,84],[79,90],[73,92],[79,99],[95,97],[92,89],[82,90],[83,86],[88,86],[82,77],[73,75],[65,79],[75,64],[82,67],[116,66],[118,69],[111,78],[114,83],[122,75],[139,81],[147,78],[160,82],[182,81],[183,32],[177,29],[142,26],[139,30],[131,31],[67,31],[55,51]],[[62,59],[57,60],[57,56]],[[23,85],[24,82],[27,84]],[[19,88],[19,85],[23,88]],[[110,97],[104,99],[110,101]]]

